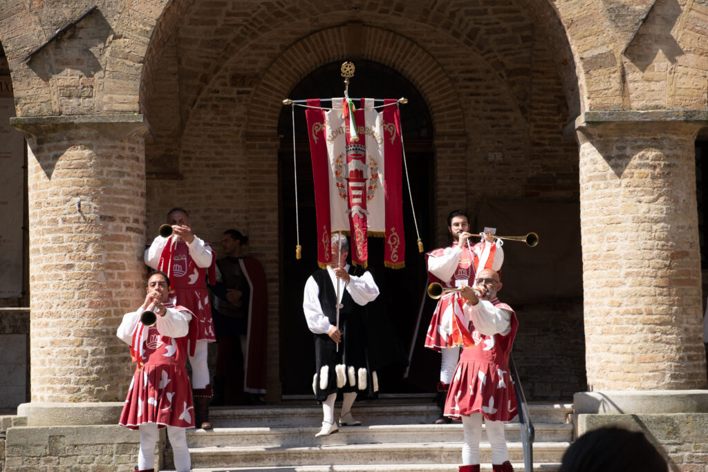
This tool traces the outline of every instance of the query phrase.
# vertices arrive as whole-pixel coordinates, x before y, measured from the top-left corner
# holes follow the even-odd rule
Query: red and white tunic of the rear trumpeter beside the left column
[[[190,355],[193,355],[196,341],[216,340],[206,283],[207,270],[210,282],[216,282],[216,255],[209,243],[196,236],[191,243],[181,238],[173,243],[173,238],[177,236],[157,236],[145,251],[145,263],[168,275],[175,293],[174,303],[186,306],[194,314],[189,327]]]

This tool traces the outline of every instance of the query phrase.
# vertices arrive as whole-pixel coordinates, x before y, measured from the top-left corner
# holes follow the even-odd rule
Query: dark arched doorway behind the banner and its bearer
[[[370,61],[355,64],[355,76],[349,86],[351,97],[408,98],[401,107],[401,127],[404,149],[411,184],[413,205],[418,222],[418,231],[426,250],[433,241],[435,202],[433,199],[434,159],[433,124],[425,100],[404,76],[394,69]],[[341,62],[326,64],[302,79],[290,92],[293,100],[304,98],[331,98],[343,96]],[[307,278],[318,269],[316,255],[316,214],[314,206],[314,183],[312,161],[307,140],[305,108],[295,107],[295,149],[293,163],[292,115],[284,107],[278,123],[280,151],[279,175],[279,223],[280,223],[280,380],[284,397],[312,396],[314,374],[314,340],[307,328],[302,311],[302,293]],[[297,171],[295,168],[297,167]],[[297,176],[297,199],[299,217],[299,243],[302,259],[295,258],[297,244],[297,221],[295,209],[295,177]],[[384,311],[393,326],[398,340],[409,349],[415,331],[421,295],[427,285],[426,265],[423,254],[418,253],[416,229],[406,178],[404,174],[404,228],[406,230],[406,267],[392,270],[383,264],[383,238],[369,238],[369,270],[379,285]],[[426,307],[421,329],[428,326],[432,309]],[[418,330],[420,333],[420,330]],[[417,354],[416,350],[416,354]],[[440,362],[430,352],[430,359]],[[423,354],[425,357],[425,354]],[[433,369],[430,385],[437,381]],[[427,383],[427,381],[423,381]],[[418,393],[429,391],[421,381],[404,379],[404,365],[391,364],[381,372],[379,369],[379,393]]]

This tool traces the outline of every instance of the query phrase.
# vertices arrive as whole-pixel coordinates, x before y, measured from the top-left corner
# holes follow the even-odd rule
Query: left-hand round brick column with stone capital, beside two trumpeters
[[[132,369],[115,330],[145,286],[144,120],[27,117],[13,125],[29,148],[28,405],[122,402]],[[43,416],[30,426],[53,421]]]

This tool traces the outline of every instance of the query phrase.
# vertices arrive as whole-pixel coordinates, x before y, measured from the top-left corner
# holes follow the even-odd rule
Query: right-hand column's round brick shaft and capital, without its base
[[[695,135],[687,122],[584,122],[590,390],[705,388]]]

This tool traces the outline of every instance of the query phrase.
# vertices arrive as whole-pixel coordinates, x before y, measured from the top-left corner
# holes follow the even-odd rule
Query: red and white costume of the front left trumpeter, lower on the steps
[[[131,347],[137,369],[130,382],[119,425],[137,430],[140,425],[194,427],[192,389],[185,364],[192,313],[183,306],[165,304],[154,326],[140,323],[144,309],[127,313],[118,338]]]

